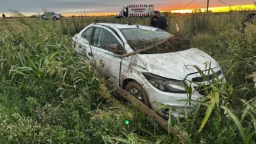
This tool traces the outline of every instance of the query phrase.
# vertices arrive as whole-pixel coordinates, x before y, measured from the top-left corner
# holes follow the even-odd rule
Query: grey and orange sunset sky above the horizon
[[[18,10],[26,15],[42,13],[42,9],[54,11],[59,14],[95,14],[117,13],[121,6],[131,4],[154,5],[156,10],[182,10],[192,0],[1,0],[0,13],[10,13],[10,10]],[[194,0],[186,9],[198,9],[206,7],[207,0]],[[229,5],[253,5],[256,0],[210,0],[210,7],[225,7]]]

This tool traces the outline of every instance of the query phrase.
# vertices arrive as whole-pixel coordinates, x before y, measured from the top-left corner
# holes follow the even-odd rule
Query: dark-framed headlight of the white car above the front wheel
[[[163,92],[172,92],[172,93],[180,93],[186,94],[186,84],[184,81],[167,79],[160,77],[158,75],[154,75],[152,73],[142,73],[144,77],[156,88]]]

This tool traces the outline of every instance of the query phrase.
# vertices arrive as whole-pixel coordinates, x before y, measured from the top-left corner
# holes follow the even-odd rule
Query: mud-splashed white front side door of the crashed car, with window
[[[121,67],[119,54],[125,53],[123,43],[111,29],[100,26],[95,27],[92,42],[90,57],[101,63],[100,73],[104,77],[110,78],[115,86],[119,86]],[[117,52],[118,50],[119,52]]]

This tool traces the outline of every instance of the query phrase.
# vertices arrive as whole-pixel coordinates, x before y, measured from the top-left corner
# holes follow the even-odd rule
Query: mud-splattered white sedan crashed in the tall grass
[[[193,65],[207,71],[204,63],[211,63],[213,68],[207,75],[216,73],[220,79],[224,77],[219,63],[205,52],[188,48],[166,53],[144,52],[120,58],[122,54],[138,50],[138,46],[135,48],[129,43],[131,39],[165,39],[170,36],[155,27],[95,23],[77,33],[72,38],[72,46],[87,60],[104,61],[100,69],[108,73],[114,85],[127,90],[152,109],[156,109],[157,103],[174,109],[190,109],[191,105],[181,101],[188,99],[185,87],[192,88],[191,98],[197,100],[204,97],[197,88],[198,83],[207,84]],[[164,112],[161,114],[165,115]]]

